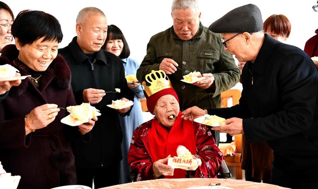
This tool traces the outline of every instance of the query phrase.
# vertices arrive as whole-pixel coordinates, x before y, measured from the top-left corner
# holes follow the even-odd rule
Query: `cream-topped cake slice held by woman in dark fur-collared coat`
[[[94,116],[100,115],[99,110],[91,106],[89,103],[69,106],[66,109],[75,121],[79,121],[81,123],[87,123],[88,120],[92,119]]]

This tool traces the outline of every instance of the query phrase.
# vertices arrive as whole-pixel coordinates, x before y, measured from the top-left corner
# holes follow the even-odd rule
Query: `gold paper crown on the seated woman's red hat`
[[[145,81],[142,82],[142,85],[145,86],[145,92],[148,96],[163,89],[172,88],[172,84],[163,70],[151,70],[151,73],[147,74],[145,79],[149,83],[149,87],[146,85]]]

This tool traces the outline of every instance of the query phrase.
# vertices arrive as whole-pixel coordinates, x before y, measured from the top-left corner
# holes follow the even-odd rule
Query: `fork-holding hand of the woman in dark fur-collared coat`
[[[48,126],[55,120],[58,112],[60,111],[57,108],[56,104],[44,104],[34,108],[27,116],[28,125],[36,130]],[[30,129],[26,126],[27,134],[30,133]]]

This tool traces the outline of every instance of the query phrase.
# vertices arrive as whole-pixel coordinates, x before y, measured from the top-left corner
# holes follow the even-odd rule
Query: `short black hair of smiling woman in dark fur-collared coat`
[[[11,32],[19,43],[24,46],[45,37],[43,41],[57,41],[63,39],[59,21],[43,11],[21,11],[13,22]]]

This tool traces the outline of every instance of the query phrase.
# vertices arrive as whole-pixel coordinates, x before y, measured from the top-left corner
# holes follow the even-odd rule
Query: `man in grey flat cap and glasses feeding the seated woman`
[[[274,150],[271,183],[293,189],[318,186],[318,71],[300,48],[264,34],[259,8],[238,7],[209,27],[238,61],[243,91],[227,109],[192,107],[190,119],[209,113],[227,118],[213,130],[244,133],[248,142],[266,141]],[[188,117],[185,117],[188,119]]]

